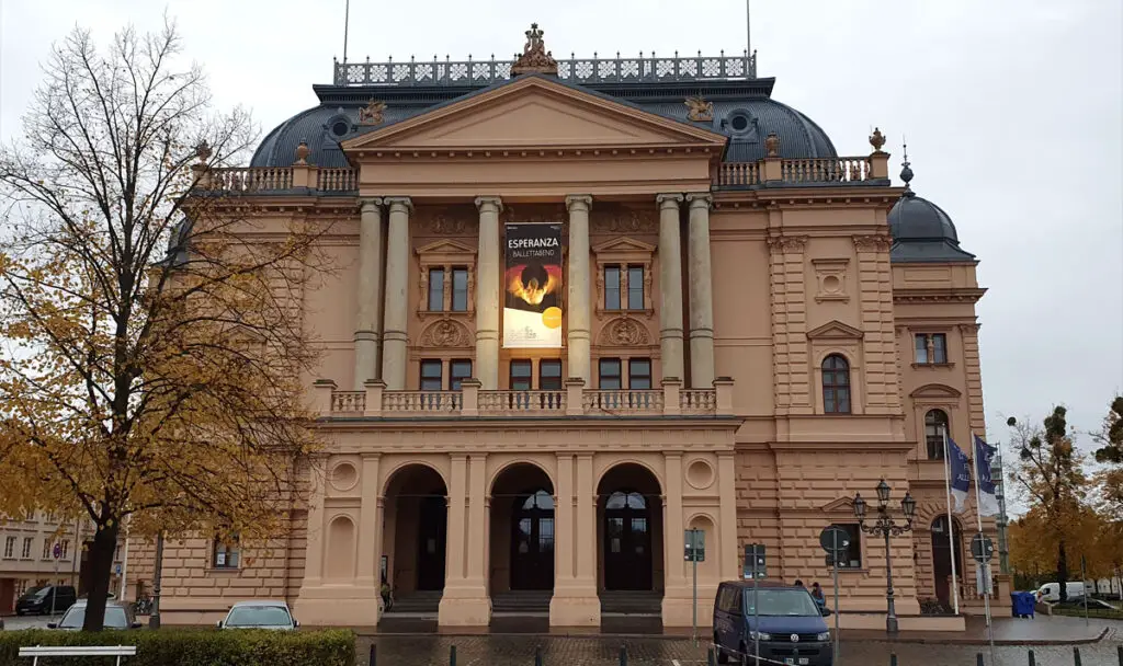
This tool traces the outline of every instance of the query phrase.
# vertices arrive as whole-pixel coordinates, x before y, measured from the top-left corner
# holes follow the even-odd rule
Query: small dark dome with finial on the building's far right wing
[[[889,210],[889,233],[893,235],[893,249],[889,257],[894,262],[947,262],[975,261],[975,255],[959,247],[959,234],[956,225],[943,209],[916,196],[909,183],[913,173],[905,157],[905,166],[901,178],[905,182],[905,192]]]

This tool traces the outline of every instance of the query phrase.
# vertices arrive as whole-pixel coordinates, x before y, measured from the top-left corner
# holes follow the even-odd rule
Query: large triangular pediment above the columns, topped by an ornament
[[[417,150],[714,147],[725,137],[544,76],[465,95],[344,142],[344,149]]]

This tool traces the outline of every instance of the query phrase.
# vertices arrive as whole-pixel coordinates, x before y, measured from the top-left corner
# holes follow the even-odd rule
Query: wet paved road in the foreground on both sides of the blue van
[[[536,638],[536,637],[365,637],[358,641],[359,665],[368,664],[371,644],[377,642],[377,666],[447,666],[449,647],[457,648],[457,666],[532,666],[535,647],[542,646],[546,666],[617,666],[620,645],[629,648],[629,666],[700,666],[705,664],[705,647],[694,647],[679,639]],[[1080,646],[1084,666],[1120,666],[1120,642],[1105,640]],[[988,666],[1025,666],[1025,648],[1001,647],[992,662],[986,647],[949,645],[889,645],[861,641],[843,645],[839,666],[878,666],[889,664],[896,653],[900,666],[975,666],[983,651]],[[1071,647],[1034,648],[1040,666],[1072,666]]]

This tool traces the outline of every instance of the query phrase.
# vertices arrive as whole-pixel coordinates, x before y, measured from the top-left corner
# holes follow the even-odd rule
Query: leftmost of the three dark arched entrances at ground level
[[[386,484],[383,553],[395,598],[445,589],[447,494],[440,474],[423,464],[405,465]]]

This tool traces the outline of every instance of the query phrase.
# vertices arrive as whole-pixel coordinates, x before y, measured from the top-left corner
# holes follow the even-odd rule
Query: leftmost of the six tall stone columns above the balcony
[[[382,314],[382,200],[363,200],[358,223],[358,304],[355,308],[355,390],[378,378]]]

